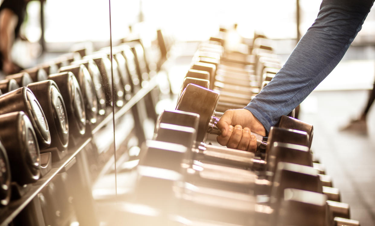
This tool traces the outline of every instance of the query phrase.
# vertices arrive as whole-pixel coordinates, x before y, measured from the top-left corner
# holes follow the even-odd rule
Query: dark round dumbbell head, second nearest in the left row
[[[9,159],[12,180],[23,185],[40,177],[40,155],[33,126],[23,112],[0,115],[0,137]]]

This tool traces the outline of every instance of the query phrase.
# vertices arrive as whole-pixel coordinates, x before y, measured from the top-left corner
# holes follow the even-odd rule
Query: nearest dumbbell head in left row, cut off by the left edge
[[[7,205],[10,199],[10,165],[3,143],[0,142],[0,205]]]

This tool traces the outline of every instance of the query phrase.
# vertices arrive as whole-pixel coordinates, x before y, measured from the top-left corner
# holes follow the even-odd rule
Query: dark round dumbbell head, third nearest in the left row
[[[21,87],[0,96],[0,114],[23,111],[33,125],[40,148],[51,144],[51,135],[42,107],[33,92]]]

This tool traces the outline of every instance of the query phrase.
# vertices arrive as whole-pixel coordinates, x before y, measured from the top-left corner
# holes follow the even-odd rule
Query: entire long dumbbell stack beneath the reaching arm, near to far
[[[210,144],[220,112],[245,107],[280,68],[264,36],[227,52],[225,32],[199,45],[175,110],[160,114],[121,224],[358,226],[314,160],[313,126],[293,112],[267,138],[254,134],[255,153]]]

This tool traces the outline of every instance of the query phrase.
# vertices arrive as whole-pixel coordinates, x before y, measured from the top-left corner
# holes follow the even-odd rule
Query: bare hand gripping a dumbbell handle
[[[266,135],[262,123],[247,109],[227,110],[217,122],[217,128],[221,131],[216,138],[219,144],[251,152],[257,150],[257,140],[251,132]]]

